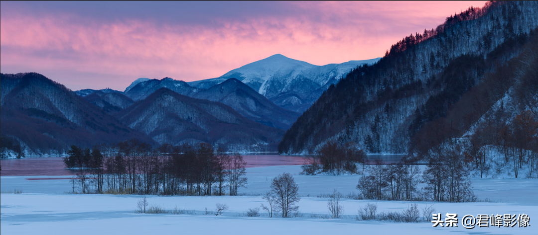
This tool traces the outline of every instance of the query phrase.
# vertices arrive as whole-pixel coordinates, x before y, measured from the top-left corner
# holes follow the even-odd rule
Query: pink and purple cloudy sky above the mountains
[[[72,90],[219,77],[274,54],[316,65],[382,57],[469,2],[2,2],[2,73]]]

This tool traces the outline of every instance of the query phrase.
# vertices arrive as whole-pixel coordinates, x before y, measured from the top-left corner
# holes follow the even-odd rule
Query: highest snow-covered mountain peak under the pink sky
[[[221,77],[188,84],[208,89],[229,78],[236,78],[276,105],[301,113],[310,107],[330,84],[336,83],[351,69],[378,60],[379,58],[375,58],[318,66],[277,54],[231,70]]]

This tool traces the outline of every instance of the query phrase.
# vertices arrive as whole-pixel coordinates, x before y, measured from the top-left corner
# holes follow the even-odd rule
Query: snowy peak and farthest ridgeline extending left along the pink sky
[[[331,84],[337,83],[351,69],[363,64],[376,63],[379,59],[318,66],[277,54],[226,72],[221,77],[195,82],[183,82],[172,78],[161,80],[138,78],[123,93],[132,100],[138,101],[146,98],[157,89],[165,87],[179,94],[195,97],[194,94],[199,91],[210,89],[210,87],[221,84],[225,80],[235,78],[266,97],[273,104],[289,111],[302,113]],[[76,91],[76,93],[79,96],[88,96],[95,91],[84,89]],[[100,91],[121,93],[121,91],[110,89]],[[288,127],[289,125],[287,124]]]

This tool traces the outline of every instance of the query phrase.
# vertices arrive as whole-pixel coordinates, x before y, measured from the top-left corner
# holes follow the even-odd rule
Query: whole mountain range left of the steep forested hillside
[[[317,66],[274,55],[197,82],[139,78],[123,92],[72,92],[40,74],[2,74],[2,136],[30,155],[130,138],[274,151],[284,131],[330,84],[377,60]]]

